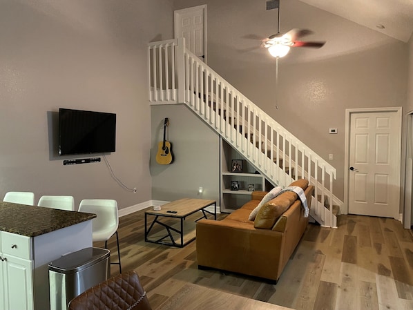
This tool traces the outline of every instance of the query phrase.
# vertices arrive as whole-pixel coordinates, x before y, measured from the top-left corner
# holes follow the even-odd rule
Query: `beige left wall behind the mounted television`
[[[7,191],[151,200],[146,44],[173,37],[169,0],[3,0],[0,3],[0,197]],[[117,114],[116,152],[63,166],[59,107]],[[102,156],[100,156],[102,157]]]

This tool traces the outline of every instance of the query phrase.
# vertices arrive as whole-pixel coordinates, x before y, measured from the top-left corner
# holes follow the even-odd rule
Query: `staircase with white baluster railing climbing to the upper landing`
[[[186,104],[274,186],[309,180],[311,217],[337,226],[336,169],[187,50],[183,38],[148,44],[148,79],[151,104]]]

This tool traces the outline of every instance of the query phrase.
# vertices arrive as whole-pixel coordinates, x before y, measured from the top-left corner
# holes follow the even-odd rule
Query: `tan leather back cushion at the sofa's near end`
[[[287,191],[273,198],[262,206],[254,220],[254,227],[257,229],[271,229],[276,224],[278,218],[289,209],[298,195],[292,191]]]

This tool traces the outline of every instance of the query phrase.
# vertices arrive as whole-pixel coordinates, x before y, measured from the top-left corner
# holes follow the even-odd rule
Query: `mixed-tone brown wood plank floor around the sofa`
[[[338,229],[309,224],[276,285],[198,270],[195,242],[144,242],[144,211],[119,219],[119,238],[122,269],[139,273],[153,310],[189,282],[292,309],[413,310],[413,234],[392,219],[340,215]],[[117,261],[115,238],[109,248]]]

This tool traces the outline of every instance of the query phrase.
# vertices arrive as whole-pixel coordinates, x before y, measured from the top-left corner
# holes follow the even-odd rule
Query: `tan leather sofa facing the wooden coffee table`
[[[314,186],[298,180],[311,205]],[[281,193],[262,206],[255,220],[248,220],[266,192],[254,191],[251,201],[223,220],[196,224],[198,268],[213,268],[253,275],[276,282],[308,224],[298,195]],[[287,209],[287,211],[284,211]],[[280,214],[282,213],[282,214]]]

